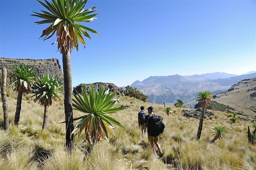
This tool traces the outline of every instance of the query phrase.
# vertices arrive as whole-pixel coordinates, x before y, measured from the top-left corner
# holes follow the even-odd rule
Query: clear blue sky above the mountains
[[[86,48],[71,53],[73,86],[112,82],[131,85],[149,76],[256,70],[256,1],[88,0],[96,20],[83,25]],[[0,57],[57,58],[56,36],[38,38],[48,24],[36,25],[35,0],[0,0]]]

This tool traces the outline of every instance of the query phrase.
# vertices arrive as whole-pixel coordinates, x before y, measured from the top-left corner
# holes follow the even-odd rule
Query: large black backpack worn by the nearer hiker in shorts
[[[159,136],[164,132],[165,125],[161,116],[153,114],[148,118],[148,135],[150,136]]]

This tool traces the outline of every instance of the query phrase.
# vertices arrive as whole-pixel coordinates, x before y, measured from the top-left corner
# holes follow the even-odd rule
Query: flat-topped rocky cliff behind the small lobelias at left
[[[37,71],[37,75],[42,74],[54,74],[63,80],[63,73],[60,65],[60,61],[56,58],[50,59],[16,59],[16,58],[0,58],[0,68],[6,67],[7,73],[11,72],[11,68],[14,65],[25,63],[26,66],[31,66]]]

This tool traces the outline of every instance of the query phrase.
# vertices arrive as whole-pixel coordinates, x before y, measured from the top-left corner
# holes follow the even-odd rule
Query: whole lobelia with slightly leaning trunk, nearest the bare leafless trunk
[[[14,118],[14,125],[19,125],[20,110],[22,94],[30,93],[30,85],[35,82],[36,71],[30,66],[25,66],[25,63],[12,67],[12,71],[9,73],[10,84],[14,86],[14,90],[18,92],[17,106]]]

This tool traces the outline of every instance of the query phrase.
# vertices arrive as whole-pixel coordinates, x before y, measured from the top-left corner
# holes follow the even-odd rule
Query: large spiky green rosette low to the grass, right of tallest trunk
[[[81,120],[72,133],[79,129],[78,135],[80,135],[84,129],[85,138],[91,143],[95,138],[96,141],[100,141],[101,138],[108,140],[108,133],[113,135],[108,125],[111,128],[114,128],[112,124],[125,128],[125,126],[116,121],[114,117],[108,116],[107,114],[123,111],[127,106],[112,108],[119,99],[114,99],[115,94],[109,93],[109,89],[105,90],[101,87],[99,93],[97,93],[97,89],[96,87],[95,91],[93,91],[93,86],[91,85],[88,96],[85,87],[82,86],[83,97],[76,93],[74,94],[75,99],[73,99],[74,110],[87,114],[74,119]]]

